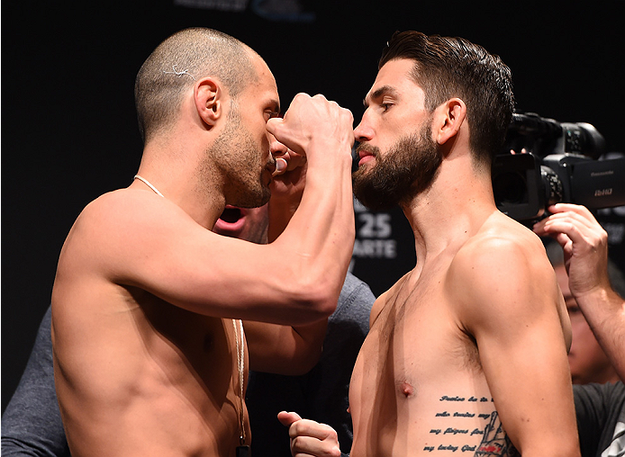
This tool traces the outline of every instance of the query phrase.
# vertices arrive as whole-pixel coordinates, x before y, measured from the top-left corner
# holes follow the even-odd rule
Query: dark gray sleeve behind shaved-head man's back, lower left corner
[[[2,456],[69,456],[54,389],[50,308],[2,417]]]

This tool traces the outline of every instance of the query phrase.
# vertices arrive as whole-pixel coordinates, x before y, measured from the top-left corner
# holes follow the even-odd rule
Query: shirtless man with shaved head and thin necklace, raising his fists
[[[249,361],[310,369],[345,279],[353,119],[305,94],[272,119],[280,108],[267,64],[200,28],[154,50],[135,97],[138,174],[78,216],[52,291],[69,448],[75,456],[247,455]],[[211,231],[226,205],[260,206],[272,192],[270,221],[284,228],[275,242]],[[267,328],[244,335],[240,319]]]

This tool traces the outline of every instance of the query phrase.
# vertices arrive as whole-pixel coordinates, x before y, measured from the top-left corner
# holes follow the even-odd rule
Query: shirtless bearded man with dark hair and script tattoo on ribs
[[[397,33],[365,106],[354,193],[401,206],[418,260],[371,311],[351,457],[579,455],[562,294],[539,237],[494,203],[509,68],[467,40]],[[279,417],[294,455],[340,454],[328,427]]]

